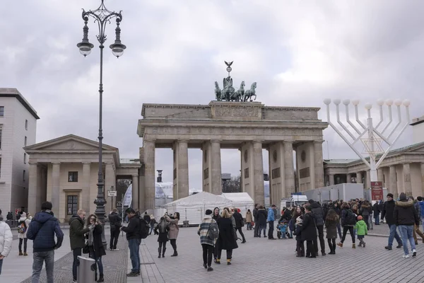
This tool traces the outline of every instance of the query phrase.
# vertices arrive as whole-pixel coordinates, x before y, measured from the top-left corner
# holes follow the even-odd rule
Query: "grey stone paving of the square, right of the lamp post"
[[[381,225],[380,228],[387,229],[387,225]],[[232,265],[225,264],[223,251],[224,264],[213,263],[213,272],[206,272],[202,266],[196,228],[179,230],[179,255],[174,258],[170,257],[170,249],[165,258],[157,258],[157,236],[149,236],[144,240],[145,247],[141,249],[143,260],[150,262],[142,276],[143,282],[298,282],[300,279],[302,282],[319,283],[424,282],[424,245],[417,246],[416,258],[404,259],[403,249],[384,249],[387,238],[368,236],[365,238],[366,248],[353,249],[348,235],[345,246],[337,248],[336,255],[315,259],[296,258],[294,239],[270,241],[267,238],[253,238],[252,231],[243,231],[247,243],[238,242],[239,248],[233,251]],[[329,252],[327,244],[326,252]],[[163,281],[157,279],[159,274]]]

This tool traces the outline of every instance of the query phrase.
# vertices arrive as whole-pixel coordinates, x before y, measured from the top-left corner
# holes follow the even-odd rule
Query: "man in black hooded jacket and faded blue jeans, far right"
[[[408,241],[411,244],[412,256],[417,255],[416,244],[413,238],[414,225],[420,225],[420,218],[413,207],[413,200],[408,200],[404,192],[399,195],[399,202],[394,207],[394,223],[399,226],[402,241],[404,242],[404,258],[409,258]]]

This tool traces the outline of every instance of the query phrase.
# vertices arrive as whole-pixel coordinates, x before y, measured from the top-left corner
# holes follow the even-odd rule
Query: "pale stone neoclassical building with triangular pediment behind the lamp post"
[[[28,212],[40,211],[42,202],[50,201],[59,221],[67,221],[78,209],[95,212],[98,194],[98,142],[73,134],[26,146],[29,154]],[[107,197],[107,190],[116,190],[118,178],[130,179],[133,196],[139,195],[138,159],[120,159],[116,147],[103,144],[103,175],[105,205],[109,212],[116,206],[116,197]],[[133,197],[134,199],[134,197]],[[134,200],[139,202],[139,200]]]

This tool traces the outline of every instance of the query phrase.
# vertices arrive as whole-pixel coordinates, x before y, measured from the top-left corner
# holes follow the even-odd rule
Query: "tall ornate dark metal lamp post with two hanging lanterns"
[[[98,216],[98,219],[100,223],[102,224],[103,233],[102,233],[102,242],[103,246],[107,246],[106,239],[105,239],[105,183],[103,180],[103,170],[102,170],[102,100],[103,100],[103,48],[104,43],[106,41],[106,25],[107,23],[110,23],[110,20],[112,18],[116,18],[117,28],[115,28],[115,42],[114,44],[110,45],[110,48],[112,49],[112,54],[114,56],[118,57],[122,56],[124,54],[124,50],[126,48],[125,45],[121,43],[121,28],[119,28],[119,23],[122,21],[122,15],[121,11],[119,13],[112,12],[107,10],[105,7],[104,0],[102,0],[102,4],[95,9],[90,11],[84,11],[82,13],[83,21],[84,21],[84,27],[83,27],[83,40],[76,45],[80,53],[86,57],[88,54],[90,54],[91,50],[93,49],[94,45],[91,44],[88,41],[88,18],[92,17],[94,18],[94,22],[98,24],[99,28],[99,34],[97,35],[98,42],[100,42],[100,84],[99,84],[99,95],[100,95],[100,108],[99,108],[99,172],[98,172],[98,195],[94,203],[96,204],[95,208],[95,214]]]

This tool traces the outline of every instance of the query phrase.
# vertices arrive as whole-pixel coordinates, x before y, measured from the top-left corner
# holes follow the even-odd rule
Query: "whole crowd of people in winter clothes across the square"
[[[153,215],[146,212],[142,217],[138,211],[129,208],[126,210],[126,218],[129,224],[122,226],[122,217],[117,213],[117,209],[113,209],[109,215],[111,251],[118,250],[119,233],[126,233],[132,265],[128,277],[140,275],[139,246],[141,239],[146,238],[148,234],[155,233],[158,236],[158,258],[165,257],[167,241],[170,241],[173,249],[171,257],[178,255],[178,212],[173,215],[165,214],[157,222]],[[416,257],[417,235],[424,243],[424,234],[420,231],[420,221],[423,222],[424,229],[424,201],[423,197],[417,197],[415,200],[413,197],[407,197],[405,193],[399,195],[398,201],[394,201],[394,196],[389,193],[386,202],[379,201],[373,205],[367,200],[359,199],[348,202],[329,201],[324,204],[309,200],[301,206],[284,207],[281,213],[277,212],[275,205],[265,209],[255,204],[253,211],[248,209],[245,217],[240,214],[240,209],[225,207],[220,211],[219,207],[216,207],[206,210],[198,234],[203,250],[204,268],[209,272],[213,270],[212,259],[217,265],[221,264],[223,250],[226,252],[227,265],[231,265],[233,250],[238,248],[237,239],[240,239],[241,243],[247,242],[242,231],[244,226],[247,226],[247,231],[253,230],[255,238],[261,238],[263,235],[269,240],[276,240],[274,228],[277,221],[278,238],[295,238],[295,256],[317,258],[319,254],[327,254],[326,244],[329,247],[328,254],[335,255],[337,246],[343,248],[348,232],[352,248],[356,248],[356,241],[358,247],[365,248],[368,231],[373,229],[373,225],[383,224],[384,219],[389,227],[388,243],[384,248],[391,250],[396,240],[396,248],[404,248],[404,258],[409,258],[410,254]],[[78,256],[82,253],[87,253],[95,260],[95,280],[104,282],[102,257],[106,255],[106,250],[102,243],[102,229],[98,216],[90,214],[86,219],[86,212],[82,209],[69,220],[73,282],[77,279]],[[51,202],[44,202],[42,211],[34,217],[25,212],[20,213],[18,255],[28,255],[27,241],[32,240],[32,282],[39,282],[43,264],[47,272],[47,283],[53,282],[54,250],[61,247],[63,238],[64,233],[52,212]],[[4,258],[11,252],[12,241],[11,228],[4,221],[0,210],[0,275]]]

